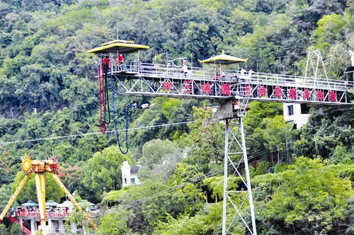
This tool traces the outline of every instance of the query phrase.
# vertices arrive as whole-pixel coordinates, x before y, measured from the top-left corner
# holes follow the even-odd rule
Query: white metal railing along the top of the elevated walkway
[[[127,71],[141,74],[142,76],[152,77],[171,77],[181,79],[195,79],[205,81],[215,81],[217,74],[220,74],[219,68],[188,67],[188,72],[183,73],[182,68],[169,64],[151,64],[142,62],[127,62],[121,67],[113,65],[113,73],[118,71]],[[292,76],[286,74],[267,74],[254,72],[253,74],[241,74],[240,71],[224,70],[225,76],[219,77],[222,81],[236,81],[249,84],[262,84],[269,86],[296,86],[304,88],[318,88],[326,90],[347,90],[354,88],[353,81],[341,81],[335,79],[323,79],[304,76]]]

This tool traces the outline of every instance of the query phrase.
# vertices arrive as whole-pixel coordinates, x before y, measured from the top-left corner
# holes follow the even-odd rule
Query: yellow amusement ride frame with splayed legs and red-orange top
[[[69,197],[75,207],[82,211],[79,203],[76,202],[75,198],[69,193],[69,190],[65,188],[64,184],[60,180],[60,178],[55,174],[57,172],[57,160],[52,157],[48,160],[31,160],[30,156],[25,155],[22,159],[22,169],[23,172],[26,173],[25,178],[21,181],[20,185],[15,190],[15,193],[11,196],[11,199],[8,201],[6,207],[0,214],[0,222],[4,219],[6,213],[10,209],[13,202],[18,197],[18,194],[21,192],[23,186],[27,182],[28,178],[30,178],[31,173],[35,173],[35,187],[37,189],[37,197],[38,197],[38,205],[40,210],[40,226],[38,227],[38,231],[40,234],[49,234],[49,228],[47,227],[47,219],[45,214],[45,173],[50,173],[50,175],[55,179],[59,188],[61,188],[64,193]],[[86,216],[87,221],[90,226],[96,230],[95,224],[91,221],[91,219]]]

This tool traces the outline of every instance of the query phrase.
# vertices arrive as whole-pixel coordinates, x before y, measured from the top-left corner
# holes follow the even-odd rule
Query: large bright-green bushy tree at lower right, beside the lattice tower
[[[292,226],[303,233],[341,231],[348,198],[353,196],[350,180],[338,178],[321,160],[304,157],[295,159],[282,173],[256,176],[255,183],[264,187],[268,179],[272,183],[265,200],[267,210],[259,212],[262,216],[278,227]]]

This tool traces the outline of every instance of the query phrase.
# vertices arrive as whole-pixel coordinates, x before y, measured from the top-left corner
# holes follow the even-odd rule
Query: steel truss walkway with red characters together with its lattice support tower
[[[112,55],[110,61],[108,76],[116,95],[198,98],[220,103],[217,116],[225,123],[223,235],[232,232],[238,222],[244,224],[246,233],[257,234],[243,125],[249,101],[348,105],[348,91],[354,88],[353,81],[309,76],[224,71],[224,76],[217,77],[221,69],[189,67],[184,73],[171,64],[128,62],[118,67]],[[234,119],[237,122],[232,124]],[[244,186],[232,188],[234,180],[241,180]],[[234,212],[231,221],[227,220],[230,210]],[[250,218],[245,217],[245,210],[249,210]]]

